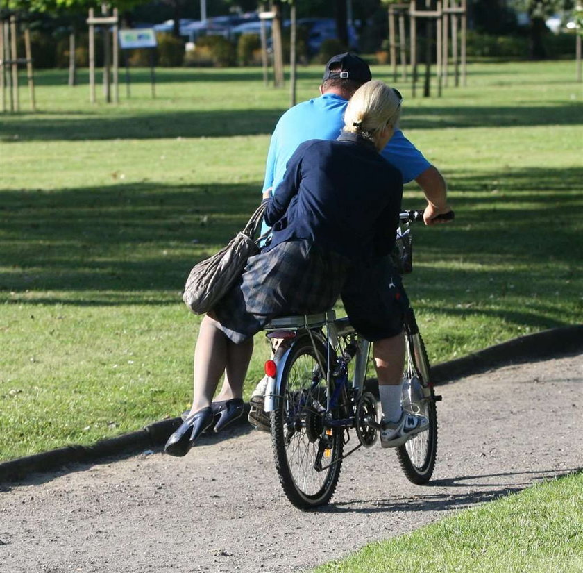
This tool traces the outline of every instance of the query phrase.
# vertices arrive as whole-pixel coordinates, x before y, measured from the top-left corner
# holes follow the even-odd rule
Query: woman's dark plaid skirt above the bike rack
[[[239,282],[212,312],[230,340],[243,342],[273,317],[332,308],[349,267],[348,258],[308,240],[283,242],[250,257]]]

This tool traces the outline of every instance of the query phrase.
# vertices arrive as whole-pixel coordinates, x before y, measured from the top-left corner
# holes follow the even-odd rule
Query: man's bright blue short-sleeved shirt
[[[335,140],[344,126],[348,100],[336,94],[324,94],[298,103],[285,112],[276,125],[267,153],[263,191],[277,186],[283,179],[289,158],[299,144],[313,139]],[[421,151],[397,129],[380,155],[394,165],[408,183],[430,167]]]

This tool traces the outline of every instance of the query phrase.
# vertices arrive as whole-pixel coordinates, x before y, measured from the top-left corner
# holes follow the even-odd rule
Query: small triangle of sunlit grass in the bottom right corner
[[[582,525],[580,473],[367,545],[314,573],[578,573]]]

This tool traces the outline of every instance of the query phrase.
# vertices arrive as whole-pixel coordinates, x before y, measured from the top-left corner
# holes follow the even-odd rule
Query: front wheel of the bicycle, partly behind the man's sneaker
[[[405,476],[423,485],[433,474],[437,456],[437,410],[429,381],[429,360],[419,332],[407,333],[407,360],[403,374],[403,409],[425,416],[427,430],[414,435],[397,448],[397,456]]]

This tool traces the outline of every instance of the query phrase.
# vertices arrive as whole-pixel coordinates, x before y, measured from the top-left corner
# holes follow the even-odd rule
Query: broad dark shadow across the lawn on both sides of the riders
[[[552,297],[544,293],[566,283],[573,289],[580,276],[582,180],[575,168],[513,171],[496,182],[490,174],[455,177],[457,219],[416,226],[416,272],[407,288],[436,313],[445,305],[448,313],[517,324],[567,324],[549,317]],[[493,193],[493,185],[502,191]],[[0,191],[0,292],[27,304],[174,303],[192,265],[226,244],[258,199],[253,183]],[[531,288],[543,294],[527,311],[503,303],[530,297]],[[491,294],[492,305],[484,305]],[[481,308],[472,308],[475,301]]]

